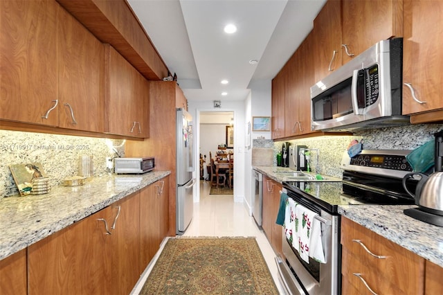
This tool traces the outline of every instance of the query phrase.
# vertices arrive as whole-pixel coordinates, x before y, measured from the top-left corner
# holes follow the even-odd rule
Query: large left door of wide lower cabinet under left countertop
[[[29,294],[105,294],[110,207],[28,247]],[[109,224],[111,226],[111,224]]]

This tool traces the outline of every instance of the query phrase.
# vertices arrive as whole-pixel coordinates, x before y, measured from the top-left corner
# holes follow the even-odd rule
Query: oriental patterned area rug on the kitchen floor
[[[171,238],[140,294],[278,294],[255,238]]]

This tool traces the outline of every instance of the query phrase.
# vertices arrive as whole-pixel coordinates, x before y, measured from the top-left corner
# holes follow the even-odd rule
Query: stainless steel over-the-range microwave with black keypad
[[[330,132],[409,123],[401,115],[403,39],[378,42],[311,87],[311,129]]]

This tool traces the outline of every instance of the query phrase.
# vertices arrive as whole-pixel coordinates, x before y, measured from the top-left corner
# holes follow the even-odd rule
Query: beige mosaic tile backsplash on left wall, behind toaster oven
[[[109,173],[106,159],[125,155],[125,141],[0,130],[0,199],[19,195],[9,166],[41,163],[51,186],[78,175],[81,155],[93,157],[93,176]]]

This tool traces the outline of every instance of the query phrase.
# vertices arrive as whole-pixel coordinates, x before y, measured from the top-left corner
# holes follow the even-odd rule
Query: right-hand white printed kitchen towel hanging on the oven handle
[[[309,263],[309,257],[325,263],[321,240],[321,224],[316,216],[318,216],[317,213],[305,208],[305,206],[298,204],[296,207],[296,236],[298,242],[293,242],[293,247],[298,250],[300,258],[307,263]]]

